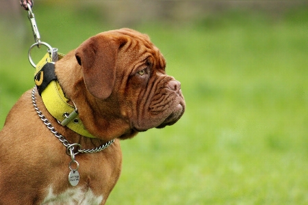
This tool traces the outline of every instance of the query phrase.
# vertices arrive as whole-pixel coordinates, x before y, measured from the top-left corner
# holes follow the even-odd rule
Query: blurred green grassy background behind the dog
[[[34,86],[34,39],[18,0],[0,3],[2,128]],[[61,53],[101,31],[147,33],[181,81],[183,118],[122,141],[107,204],[308,204],[307,1],[37,0],[34,14]]]

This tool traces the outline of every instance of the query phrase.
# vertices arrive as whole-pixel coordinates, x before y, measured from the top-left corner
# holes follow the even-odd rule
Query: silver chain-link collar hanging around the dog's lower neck
[[[61,141],[66,148],[68,148],[69,146],[73,146],[74,144],[69,143],[69,141],[67,141],[65,139],[65,137],[63,137],[60,133],[55,131],[55,128],[51,125],[49,120],[47,120],[47,118],[42,114],[40,109],[38,109],[38,106],[36,105],[35,94],[36,94],[36,89],[34,87],[34,89],[32,90],[31,98],[32,98],[32,103],[34,105],[34,109],[36,110],[36,113],[38,113],[40,120],[42,120],[42,122],[44,122],[44,124],[47,126],[47,128],[49,128],[49,131],[51,131],[51,133],[53,133],[53,135],[55,135],[55,137],[57,137],[57,139],[59,139],[59,141]],[[112,143],[114,143],[114,139],[112,139],[111,141],[107,141],[105,144],[103,144],[103,145],[101,145],[97,148],[93,148],[93,149],[81,149],[81,146],[80,146],[80,149],[78,150],[78,152],[86,153],[86,154],[100,152],[102,150],[105,150],[105,148],[109,147]],[[78,154],[78,152],[77,152],[77,154]]]

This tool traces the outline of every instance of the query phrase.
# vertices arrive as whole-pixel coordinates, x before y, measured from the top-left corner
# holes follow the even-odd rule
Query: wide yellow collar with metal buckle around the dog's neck
[[[37,64],[36,73],[39,72],[47,62],[51,62],[49,53]],[[67,126],[79,135],[95,138],[84,128],[84,124],[79,119],[77,108],[68,104],[69,100],[64,96],[58,81],[51,81],[42,91],[42,101],[49,113],[53,115],[53,118],[62,124],[62,126]]]

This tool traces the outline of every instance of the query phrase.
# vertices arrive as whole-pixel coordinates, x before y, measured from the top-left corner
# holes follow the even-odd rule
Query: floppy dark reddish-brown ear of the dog
[[[126,42],[126,41],[125,41]],[[116,79],[116,57],[123,40],[97,35],[83,42],[75,51],[90,94],[105,99],[112,93]]]

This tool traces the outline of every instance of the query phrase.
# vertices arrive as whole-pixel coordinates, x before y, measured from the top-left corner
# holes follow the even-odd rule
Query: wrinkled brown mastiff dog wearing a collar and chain
[[[0,204],[105,204],[120,176],[119,139],[172,125],[183,115],[180,83],[165,66],[149,37],[131,29],[99,33],[57,61],[58,83],[48,85],[57,94],[25,92],[0,133]],[[66,113],[74,115],[73,130],[59,123],[70,118],[62,108],[53,105],[49,113],[44,98],[75,109],[77,116]]]

